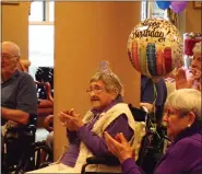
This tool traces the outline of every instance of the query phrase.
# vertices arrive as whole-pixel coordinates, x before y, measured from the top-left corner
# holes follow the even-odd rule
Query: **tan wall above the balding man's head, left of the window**
[[[28,11],[29,2],[14,5],[2,4],[1,39],[16,43],[21,48],[21,57],[28,63]]]

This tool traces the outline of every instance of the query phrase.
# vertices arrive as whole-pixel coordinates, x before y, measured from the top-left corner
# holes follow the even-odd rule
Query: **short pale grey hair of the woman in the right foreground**
[[[181,89],[173,92],[166,106],[176,109],[183,116],[190,112],[194,113],[195,121],[201,120],[201,92],[195,89]]]

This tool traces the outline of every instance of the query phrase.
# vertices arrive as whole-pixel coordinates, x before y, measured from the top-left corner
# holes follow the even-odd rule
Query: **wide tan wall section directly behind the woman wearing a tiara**
[[[127,57],[127,40],[140,22],[140,2],[56,2],[55,160],[67,142],[57,113],[91,107],[86,88],[100,60],[108,60],[126,89],[124,101],[139,106],[140,73]]]

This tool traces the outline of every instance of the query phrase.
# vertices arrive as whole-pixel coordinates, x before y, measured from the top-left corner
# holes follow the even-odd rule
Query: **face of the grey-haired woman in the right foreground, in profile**
[[[166,108],[163,121],[166,123],[167,136],[173,139],[188,127],[189,117],[182,117],[179,115],[179,112]]]

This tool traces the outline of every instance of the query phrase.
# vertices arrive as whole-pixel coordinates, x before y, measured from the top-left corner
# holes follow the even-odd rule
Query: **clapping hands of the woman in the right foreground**
[[[134,156],[134,153],[122,132],[118,134],[115,139],[107,131],[105,131],[104,135],[108,150],[119,159],[120,163]]]

